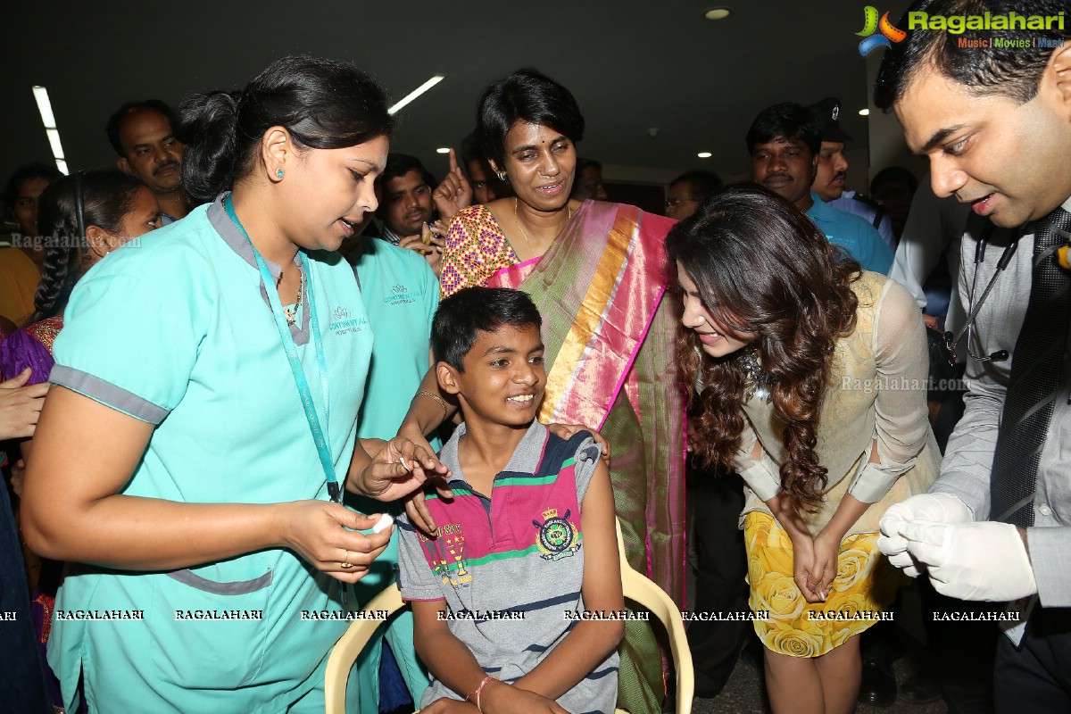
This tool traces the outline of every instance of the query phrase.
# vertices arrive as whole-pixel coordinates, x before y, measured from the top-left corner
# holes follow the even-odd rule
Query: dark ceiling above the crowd
[[[493,80],[533,66],[574,93],[580,153],[660,171],[748,170],[744,134],[764,107],[838,96],[842,127],[866,143],[864,0],[20,0],[5,3],[0,177],[50,151],[30,87],[51,95],[72,169],[110,164],[108,115],[129,100],[244,86],[292,52],[352,61],[397,100],[447,79],[401,112],[392,149],[441,174],[435,148],[474,124]],[[710,21],[703,11],[730,6]],[[889,9],[897,18],[907,0]],[[648,130],[658,127],[658,138]],[[696,158],[710,151],[713,157]]]

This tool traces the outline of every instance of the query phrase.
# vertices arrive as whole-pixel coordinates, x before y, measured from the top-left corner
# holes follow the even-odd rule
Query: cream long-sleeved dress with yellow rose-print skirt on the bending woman
[[[940,469],[926,417],[927,360],[922,319],[896,283],[864,272],[853,284],[856,329],[838,340],[817,429],[829,482],[818,511],[804,516],[812,535],[845,493],[870,503],[841,543],[836,578],[825,603],[809,604],[793,578],[793,546],[765,501],[780,490],[784,424],[759,397],[743,405],[748,427],[737,469],[748,485],[742,516],[755,632],[773,652],[826,654],[880,618],[904,581],[877,549],[877,523],[893,503],[925,492]],[[750,457],[755,440],[763,457]],[[877,442],[879,461],[870,464]]]

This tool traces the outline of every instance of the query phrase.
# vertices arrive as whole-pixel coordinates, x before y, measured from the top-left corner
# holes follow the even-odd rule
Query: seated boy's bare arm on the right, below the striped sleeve
[[[580,508],[584,533],[584,607],[590,611],[624,609],[621,565],[617,551],[614,492],[609,469],[602,460]],[[514,686],[557,699],[594,671],[617,649],[624,635],[620,620],[582,620],[532,671]]]

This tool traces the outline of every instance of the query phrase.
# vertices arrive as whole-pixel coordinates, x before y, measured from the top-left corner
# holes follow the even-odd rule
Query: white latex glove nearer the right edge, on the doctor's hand
[[[1026,546],[1011,523],[906,523],[907,550],[942,595],[1002,603],[1038,592]]]

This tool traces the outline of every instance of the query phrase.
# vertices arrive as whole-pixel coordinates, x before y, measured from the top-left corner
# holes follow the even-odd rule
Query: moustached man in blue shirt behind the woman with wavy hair
[[[748,130],[752,179],[790,201],[826,234],[870,271],[887,275],[892,250],[863,218],[827,206],[811,191],[818,171],[821,126],[818,116],[784,102],[758,113]]]

